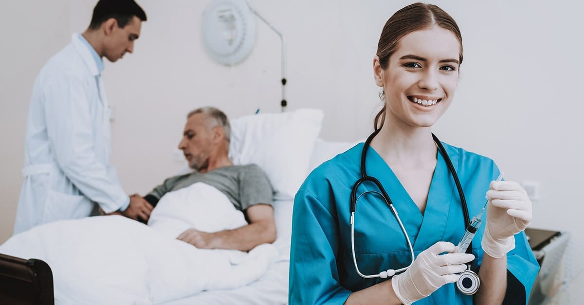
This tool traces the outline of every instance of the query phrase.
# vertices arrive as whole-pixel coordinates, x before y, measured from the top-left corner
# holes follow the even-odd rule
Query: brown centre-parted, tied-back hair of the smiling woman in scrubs
[[[432,26],[439,26],[449,30],[458,38],[458,42],[460,42],[458,62],[462,64],[463,36],[454,19],[436,5],[418,2],[398,10],[385,23],[377,44],[377,56],[379,57],[381,69],[387,69],[391,54],[394,54],[395,50],[397,50],[399,41],[404,36],[413,31],[423,30]],[[385,121],[385,95],[384,92],[379,95],[384,104],[373,121],[375,130],[381,129]]]

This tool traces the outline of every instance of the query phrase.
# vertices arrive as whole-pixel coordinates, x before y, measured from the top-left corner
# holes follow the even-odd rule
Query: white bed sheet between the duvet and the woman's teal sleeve
[[[274,246],[280,257],[257,281],[234,290],[211,290],[164,305],[242,304],[276,305],[288,303],[288,268],[293,201],[275,201],[274,218],[278,232]]]

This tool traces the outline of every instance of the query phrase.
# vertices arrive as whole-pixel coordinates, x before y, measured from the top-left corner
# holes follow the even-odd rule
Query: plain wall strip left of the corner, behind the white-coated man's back
[[[67,0],[0,2],[0,243],[12,235],[26,113],[41,66],[69,41]]]

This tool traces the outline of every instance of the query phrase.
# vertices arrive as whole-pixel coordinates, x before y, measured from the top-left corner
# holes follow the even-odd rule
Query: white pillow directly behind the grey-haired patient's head
[[[231,120],[234,164],[257,164],[272,183],[275,200],[294,198],[304,182],[324,113],[298,109]]]

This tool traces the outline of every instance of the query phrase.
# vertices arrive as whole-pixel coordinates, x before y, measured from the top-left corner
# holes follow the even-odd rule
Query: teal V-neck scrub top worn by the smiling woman
[[[499,175],[493,160],[444,144],[458,174],[470,217],[485,204],[485,193]],[[298,190],[294,199],[290,252],[290,304],[343,304],[350,293],[387,279],[361,278],[351,253],[350,194],[361,177],[363,143],[317,167]],[[366,171],[384,186],[404,223],[415,255],[437,241],[458,244],[465,232],[460,196],[441,153],[424,214],[409,197],[391,168],[373,148],[367,150]],[[378,191],[374,184],[361,184],[357,197],[365,191]],[[355,253],[363,274],[373,275],[387,269],[406,267],[411,255],[404,233],[390,208],[373,193],[363,195],[355,213]],[[477,271],[482,262],[483,225],[472,241],[472,262]],[[515,249],[507,253],[507,269],[525,288],[526,300],[539,265],[523,232],[515,236]],[[454,283],[444,285],[418,304],[472,304]]]

